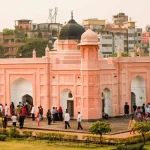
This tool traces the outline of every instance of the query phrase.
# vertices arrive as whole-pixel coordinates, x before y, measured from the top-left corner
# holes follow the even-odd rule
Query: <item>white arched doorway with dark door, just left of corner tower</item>
[[[74,117],[74,100],[73,100],[73,94],[69,89],[65,89],[61,91],[60,93],[60,106],[63,109],[63,112],[65,113],[66,109],[68,109],[68,112],[70,114],[70,117]]]

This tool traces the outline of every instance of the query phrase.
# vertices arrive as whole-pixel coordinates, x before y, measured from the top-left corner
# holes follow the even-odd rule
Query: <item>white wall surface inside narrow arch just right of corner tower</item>
[[[112,116],[111,92],[109,89],[104,89],[103,94],[105,99],[104,112],[107,113],[108,116]]]

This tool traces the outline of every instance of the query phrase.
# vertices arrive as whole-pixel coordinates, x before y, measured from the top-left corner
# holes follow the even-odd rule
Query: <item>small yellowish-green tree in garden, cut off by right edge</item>
[[[145,144],[145,134],[150,131],[150,122],[136,122],[133,126],[133,130],[142,135]]]

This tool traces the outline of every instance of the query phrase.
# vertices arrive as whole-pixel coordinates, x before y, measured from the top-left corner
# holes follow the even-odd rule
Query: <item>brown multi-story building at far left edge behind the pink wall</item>
[[[16,40],[16,35],[0,33],[0,44],[4,47],[4,55],[9,58],[15,58],[16,52],[24,43]]]

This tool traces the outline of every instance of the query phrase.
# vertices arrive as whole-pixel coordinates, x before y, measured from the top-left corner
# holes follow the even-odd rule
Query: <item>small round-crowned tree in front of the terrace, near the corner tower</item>
[[[108,122],[97,121],[90,127],[90,132],[100,136],[100,143],[102,144],[102,135],[111,132],[111,127]]]

